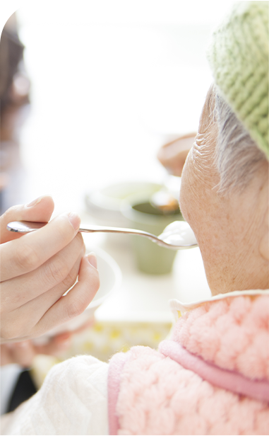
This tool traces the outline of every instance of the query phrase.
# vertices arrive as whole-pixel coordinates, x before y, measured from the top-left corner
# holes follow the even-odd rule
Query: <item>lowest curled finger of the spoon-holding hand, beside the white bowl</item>
[[[80,263],[78,282],[64,297],[61,297],[37,323],[35,336],[42,335],[59,324],[82,314],[100,286],[97,262],[94,253],[84,256]]]

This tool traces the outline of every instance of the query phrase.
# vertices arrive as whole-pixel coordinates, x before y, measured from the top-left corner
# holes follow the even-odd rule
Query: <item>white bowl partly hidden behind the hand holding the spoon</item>
[[[90,253],[90,251],[92,250],[87,248],[86,252]],[[121,285],[121,270],[116,261],[101,248],[95,248],[94,251],[97,257],[97,268],[100,275],[100,288],[94,299],[92,299],[92,302],[90,302],[83,314],[61,324],[61,326],[54,327],[52,330],[40,336],[40,338],[35,338],[35,343],[46,343],[47,340],[54,335],[64,331],[74,331],[80,326],[83,326],[86,321],[92,319],[96,309],[104,302],[108,295],[112,294],[112,292]]]

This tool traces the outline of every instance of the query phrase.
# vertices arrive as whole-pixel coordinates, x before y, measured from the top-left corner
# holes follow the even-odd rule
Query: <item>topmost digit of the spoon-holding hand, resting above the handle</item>
[[[28,205],[13,206],[0,217],[0,243],[18,239],[22,235],[8,231],[6,226],[12,221],[48,222],[54,211],[54,201],[49,195],[37,198]]]

